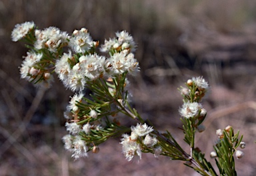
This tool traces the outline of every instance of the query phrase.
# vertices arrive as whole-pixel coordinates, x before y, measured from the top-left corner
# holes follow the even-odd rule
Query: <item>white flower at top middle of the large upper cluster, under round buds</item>
[[[74,31],[75,32],[75,31]],[[69,46],[73,48],[75,52],[86,52],[93,46],[93,40],[87,30],[81,29],[73,33],[70,39]]]

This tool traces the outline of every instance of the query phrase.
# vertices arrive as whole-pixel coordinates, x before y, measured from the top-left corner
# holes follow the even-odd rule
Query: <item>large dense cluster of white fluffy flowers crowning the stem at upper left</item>
[[[57,27],[39,30],[33,22],[26,22],[15,25],[11,35],[13,41],[24,40],[33,48],[21,64],[21,78],[49,88],[54,71],[73,91],[83,90],[87,82],[98,78],[115,78],[139,71],[133,54],[136,47],[133,37],[126,31],[117,32],[116,36],[101,46],[101,51],[109,52],[107,58],[97,54],[99,42],[93,41],[85,28],[69,35]],[[68,52],[63,52],[64,47],[68,47]]]

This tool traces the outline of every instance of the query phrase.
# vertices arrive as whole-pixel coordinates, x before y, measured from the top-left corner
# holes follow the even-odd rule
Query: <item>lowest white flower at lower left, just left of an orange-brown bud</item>
[[[83,141],[79,135],[76,135],[75,139],[73,140],[72,151],[73,151],[72,157],[74,157],[75,159],[79,159],[79,157],[88,156],[88,153],[87,153],[88,147],[85,141]]]

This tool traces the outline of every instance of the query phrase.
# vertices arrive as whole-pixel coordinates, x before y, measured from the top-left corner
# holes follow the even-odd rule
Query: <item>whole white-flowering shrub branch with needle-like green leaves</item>
[[[136,44],[126,31],[116,33],[113,39],[105,40],[99,50],[99,42],[93,41],[87,29],[73,31],[72,35],[56,27],[39,30],[33,22],[18,24],[11,34],[13,41],[24,41],[29,48],[21,64],[21,78],[41,88],[49,88],[53,74],[66,88],[74,92],[64,117],[68,134],[63,139],[64,147],[72,157],[86,157],[89,151],[99,152],[99,145],[110,137],[121,136],[123,154],[128,161],[140,160],[142,153],[155,157],[165,155],[170,159],[184,161],[201,175],[218,175],[205,154],[195,144],[197,132],[203,132],[207,110],[201,100],[209,90],[203,77],[187,80],[179,88],[183,105],[179,108],[183,123],[184,141],[190,151],[185,151],[171,133],[159,132],[149,120],[144,120],[131,107],[127,75],[139,72],[139,63],[134,52]],[[91,90],[89,98],[85,89]],[[118,114],[125,114],[137,122],[136,126],[122,126]],[[217,143],[209,153],[215,158],[219,175],[237,175],[235,159],[243,157],[245,148],[231,126],[217,130]]]

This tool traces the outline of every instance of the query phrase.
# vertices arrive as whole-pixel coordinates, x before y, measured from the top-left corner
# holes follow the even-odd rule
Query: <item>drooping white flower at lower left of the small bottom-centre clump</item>
[[[141,159],[141,145],[136,141],[131,140],[129,135],[123,134],[121,139],[122,151],[128,161],[133,157],[137,157],[138,161]]]

